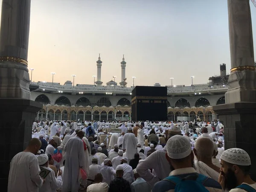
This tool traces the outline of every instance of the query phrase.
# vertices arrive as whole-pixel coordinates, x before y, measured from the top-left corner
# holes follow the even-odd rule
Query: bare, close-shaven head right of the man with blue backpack
[[[212,140],[207,137],[198,138],[193,151],[198,161],[205,162],[205,160],[211,160],[214,151]]]

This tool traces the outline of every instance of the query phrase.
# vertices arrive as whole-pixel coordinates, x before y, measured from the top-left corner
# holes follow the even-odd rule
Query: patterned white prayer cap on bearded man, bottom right
[[[251,164],[250,156],[241,148],[230,148],[223,151],[221,154],[221,160],[240,166],[249,166]]]

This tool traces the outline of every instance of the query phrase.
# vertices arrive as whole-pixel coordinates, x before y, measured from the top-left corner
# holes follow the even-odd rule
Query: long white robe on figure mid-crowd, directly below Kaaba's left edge
[[[134,158],[134,154],[137,152],[137,138],[133,133],[127,133],[124,136],[124,140],[122,143],[122,148],[126,149],[126,156],[128,160]]]

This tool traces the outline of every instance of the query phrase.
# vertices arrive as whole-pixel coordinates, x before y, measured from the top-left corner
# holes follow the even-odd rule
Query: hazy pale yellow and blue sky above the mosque
[[[256,7],[250,2],[254,53]],[[227,0],[32,0],[29,68],[32,81],[93,84],[99,52],[102,81],[128,86],[194,84],[230,71]],[[30,72],[29,72],[30,73]]]

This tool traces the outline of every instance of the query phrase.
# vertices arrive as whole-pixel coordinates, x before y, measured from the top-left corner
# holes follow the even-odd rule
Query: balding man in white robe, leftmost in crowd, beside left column
[[[38,192],[45,180],[39,175],[40,168],[35,154],[41,141],[33,138],[26,149],[16,154],[10,163],[8,192]]]

